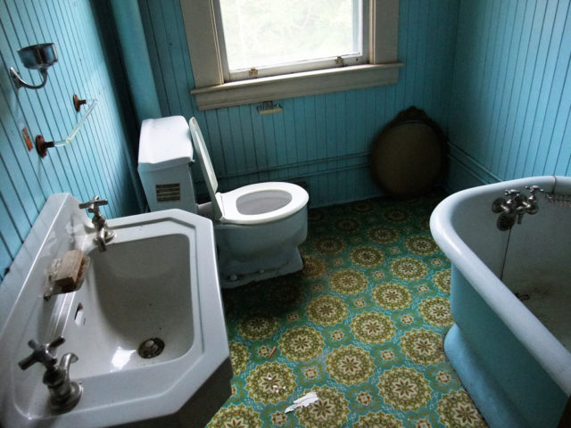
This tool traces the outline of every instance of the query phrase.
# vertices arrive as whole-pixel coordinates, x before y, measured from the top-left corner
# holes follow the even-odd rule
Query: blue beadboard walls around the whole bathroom
[[[397,85],[274,100],[284,111],[264,116],[255,104],[198,111],[178,0],[138,4],[161,115],[197,117],[223,191],[279,179],[306,181],[313,206],[377,195],[370,144],[410,105],[450,136],[450,190],[571,175],[567,0],[401,0],[399,59],[406,65]],[[121,60],[103,53],[91,7],[87,0],[0,0],[0,277],[51,193],[100,193],[111,201],[109,217],[142,210],[137,136],[128,132],[136,125],[125,122],[128,95],[118,95],[110,79]],[[16,51],[48,40],[60,62],[46,87],[16,92],[10,66],[38,81]],[[73,93],[99,102],[75,142],[45,159],[28,152],[21,128],[32,138],[60,139],[74,126]]]

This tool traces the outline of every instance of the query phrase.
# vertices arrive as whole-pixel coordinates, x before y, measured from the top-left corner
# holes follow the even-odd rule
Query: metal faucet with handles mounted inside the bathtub
[[[544,192],[539,185],[526,185],[529,196],[525,196],[517,189],[506,189],[506,198],[498,198],[492,203],[492,211],[499,213],[497,226],[500,230],[509,230],[514,224],[520,225],[524,214],[534,215],[539,210],[536,192]]]

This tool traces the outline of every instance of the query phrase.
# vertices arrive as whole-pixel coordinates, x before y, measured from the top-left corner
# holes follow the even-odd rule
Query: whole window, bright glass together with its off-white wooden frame
[[[402,65],[398,0],[181,0],[181,6],[191,93],[201,110],[391,85]]]

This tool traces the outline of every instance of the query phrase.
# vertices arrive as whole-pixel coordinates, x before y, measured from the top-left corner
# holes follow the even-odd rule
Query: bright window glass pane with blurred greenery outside
[[[360,56],[360,3],[219,0],[228,71]]]

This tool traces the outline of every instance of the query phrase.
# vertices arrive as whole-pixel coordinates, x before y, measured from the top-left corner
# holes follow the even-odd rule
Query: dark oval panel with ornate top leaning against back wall
[[[384,193],[407,198],[426,193],[443,172],[446,137],[425,111],[401,111],[377,136],[371,169]]]

